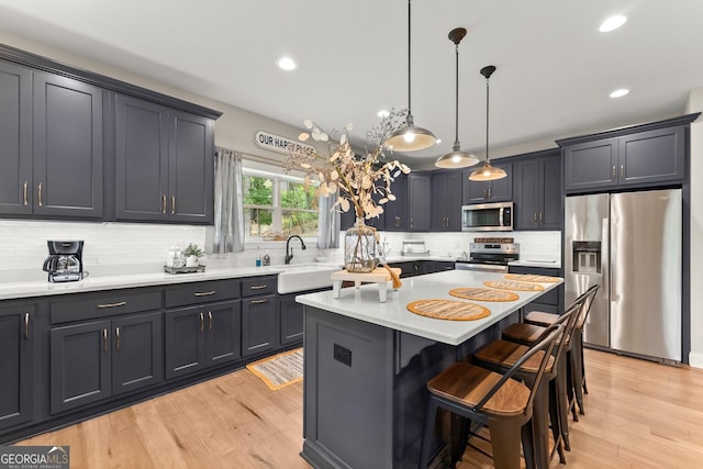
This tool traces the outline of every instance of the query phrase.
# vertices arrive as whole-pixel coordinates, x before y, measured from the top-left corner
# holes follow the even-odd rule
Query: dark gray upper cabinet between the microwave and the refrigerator
[[[561,158],[550,156],[513,163],[515,171],[515,230],[560,230]]]

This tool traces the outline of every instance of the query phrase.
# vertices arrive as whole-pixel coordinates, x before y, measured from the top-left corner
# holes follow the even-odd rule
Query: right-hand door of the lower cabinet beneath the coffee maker
[[[164,380],[161,313],[112,321],[112,394]]]

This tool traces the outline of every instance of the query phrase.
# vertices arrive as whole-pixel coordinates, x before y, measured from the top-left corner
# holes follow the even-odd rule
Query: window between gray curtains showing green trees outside
[[[317,196],[302,178],[244,169],[245,236],[317,236]]]

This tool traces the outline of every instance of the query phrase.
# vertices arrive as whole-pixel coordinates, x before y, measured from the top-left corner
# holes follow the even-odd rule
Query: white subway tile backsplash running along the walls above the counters
[[[44,258],[47,256],[46,241],[85,242],[85,270],[91,275],[127,273],[130,271],[158,271],[169,247],[186,247],[194,243],[212,249],[211,226],[143,224],[143,223],[88,223],[0,220],[0,281],[43,280]],[[400,256],[403,239],[424,239],[432,256],[460,256],[468,252],[475,237],[513,237],[521,244],[523,260],[556,260],[561,258],[561,234],[559,232],[512,233],[398,233],[379,232],[388,243],[390,256]],[[344,238],[344,233],[341,239]],[[299,242],[292,243],[293,263],[314,263],[319,256],[326,261],[342,263],[343,250],[317,249],[314,239],[305,239],[308,249]],[[272,265],[283,264],[286,242],[247,243],[244,253],[208,254],[205,264],[212,267],[254,266],[257,252],[263,256],[269,252]]]

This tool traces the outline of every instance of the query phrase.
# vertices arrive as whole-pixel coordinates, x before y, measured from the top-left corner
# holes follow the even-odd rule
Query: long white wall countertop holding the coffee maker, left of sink
[[[19,298],[47,297],[53,294],[80,293],[120,288],[136,288],[188,283],[207,280],[221,280],[237,277],[275,275],[283,271],[272,267],[228,267],[208,268],[204,272],[165,273],[165,272],[130,272],[123,275],[89,276],[80,281],[49,283],[48,281],[10,281],[0,283],[0,300]]]

